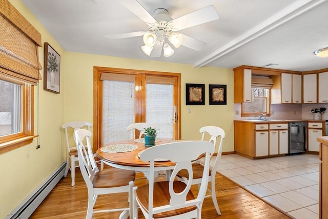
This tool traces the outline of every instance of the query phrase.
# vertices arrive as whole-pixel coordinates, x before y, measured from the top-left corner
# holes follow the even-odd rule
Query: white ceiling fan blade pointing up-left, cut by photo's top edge
[[[119,1],[122,5],[124,5],[127,9],[132,11],[135,15],[140,17],[142,21],[146,22],[147,24],[154,24],[156,23],[156,20],[152,15],[148,13],[148,11],[140,5],[140,3],[135,0],[135,1],[126,1],[126,0],[121,0]]]

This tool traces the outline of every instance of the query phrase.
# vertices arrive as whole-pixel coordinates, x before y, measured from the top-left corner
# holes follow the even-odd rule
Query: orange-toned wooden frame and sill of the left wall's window
[[[15,79],[2,77],[0,79],[10,83],[20,84],[22,90],[22,130],[18,133],[0,136],[0,154],[31,144],[34,137],[34,86]]]

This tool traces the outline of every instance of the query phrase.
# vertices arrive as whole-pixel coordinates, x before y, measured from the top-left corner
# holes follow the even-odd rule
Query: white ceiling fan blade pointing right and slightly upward
[[[209,5],[205,8],[199,9],[197,11],[173,19],[171,22],[173,24],[174,29],[182,30],[196,25],[211,22],[218,18],[219,15],[216,12],[214,6]]]

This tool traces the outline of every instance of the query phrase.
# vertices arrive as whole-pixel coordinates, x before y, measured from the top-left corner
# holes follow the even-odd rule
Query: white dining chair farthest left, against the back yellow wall
[[[65,123],[61,128],[65,130],[65,144],[67,149],[67,160],[66,160],[66,169],[64,173],[64,177],[67,176],[68,170],[71,170],[71,178],[72,183],[71,186],[75,185],[75,168],[78,167],[78,158],[77,158],[77,148],[75,144],[75,136],[74,132],[78,129],[87,129],[90,130],[92,127],[92,123],[85,121],[74,121]],[[73,138],[73,140],[72,140]],[[93,154],[96,156],[96,154]],[[104,163],[101,161],[97,161],[100,163],[100,170],[103,170]]]

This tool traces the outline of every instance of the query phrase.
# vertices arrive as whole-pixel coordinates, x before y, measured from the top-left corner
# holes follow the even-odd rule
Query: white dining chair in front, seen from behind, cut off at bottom
[[[150,162],[149,184],[133,187],[133,218],[137,219],[137,207],[146,218],[201,218],[201,208],[209,180],[210,155],[214,147],[207,141],[175,142],[150,147],[140,154],[140,159]],[[186,169],[193,177],[192,161],[205,153],[202,181],[195,195],[192,180],[187,185],[176,181],[175,176]],[[167,158],[176,163],[170,181],[154,182],[156,158]]]

